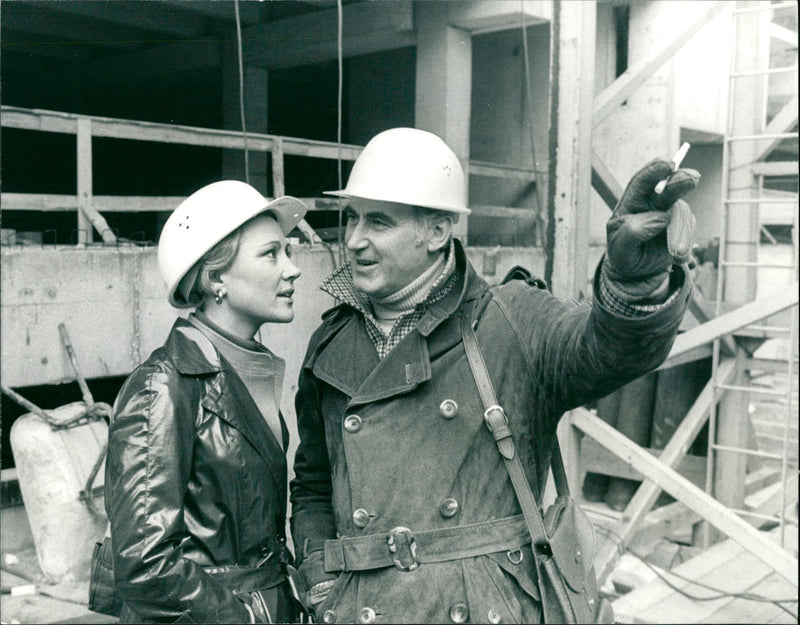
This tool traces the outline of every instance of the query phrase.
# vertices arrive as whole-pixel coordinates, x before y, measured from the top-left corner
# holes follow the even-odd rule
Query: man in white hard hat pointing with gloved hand
[[[475,315],[541,497],[564,411],[670,349],[691,286],[667,250],[664,209],[695,183],[664,161],[634,177],[609,221],[594,304],[578,305],[522,280],[487,293],[451,236],[469,212],[455,154],[408,128],[370,141],[333,192],[347,199],[350,262],[322,286],[342,303],[311,338],[296,399],[292,528],[318,620],[540,621],[530,537],[512,519],[520,507],[483,423],[462,315]]]

